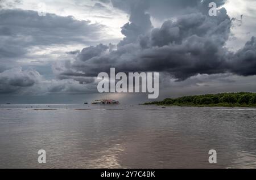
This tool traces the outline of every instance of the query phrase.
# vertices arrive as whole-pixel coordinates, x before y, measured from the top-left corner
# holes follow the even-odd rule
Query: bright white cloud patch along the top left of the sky
[[[8,2],[8,3],[7,3]],[[106,37],[109,39],[122,38],[120,27],[127,22],[129,17],[123,11],[105,4],[104,8],[94,6],[97,1],[72,1],[72,0],[26,0],[16,3],[13,0],[6,0],[6,4],[12,4],[10,8],[23,10],[38,10],[39,3],[46,4],[46,12],[58,16],[73,16],[77,20],[90,20],[92,23],[100,23],[108,27]],[[5,6],[8,7],[8,6]]]

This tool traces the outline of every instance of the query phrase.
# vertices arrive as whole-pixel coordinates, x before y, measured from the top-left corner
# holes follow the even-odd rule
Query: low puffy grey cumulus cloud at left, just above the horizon
[[[77,80],[45,80],[35,70],[22,70],[13,68],[0,73],[0,93],[18,95],[47,95],[55,93],[94,93],[97,85],[90,81],[89,84],[79,83]]]

